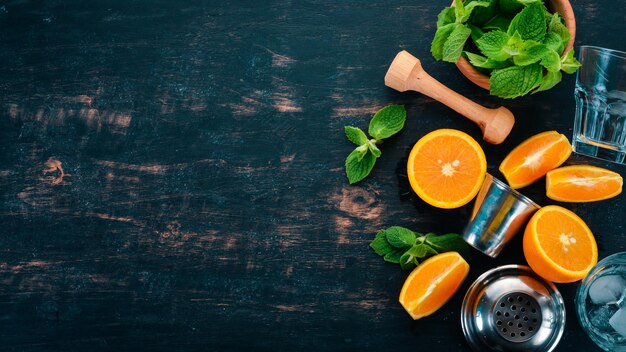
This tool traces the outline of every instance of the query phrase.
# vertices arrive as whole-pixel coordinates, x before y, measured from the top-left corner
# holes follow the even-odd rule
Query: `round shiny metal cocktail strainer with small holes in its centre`
[[[565,328],[565,306],[554,284],[526,266],[505,265],[470,286],[461,325],[475,351],[552,351]]]

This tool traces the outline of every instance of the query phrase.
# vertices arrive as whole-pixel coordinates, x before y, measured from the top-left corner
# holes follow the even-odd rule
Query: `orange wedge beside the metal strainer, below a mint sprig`
[[[431,315],[454,295],[468,272],[469,265],[457,252],[430,257],[407,277],[400,304],[415,320]]]

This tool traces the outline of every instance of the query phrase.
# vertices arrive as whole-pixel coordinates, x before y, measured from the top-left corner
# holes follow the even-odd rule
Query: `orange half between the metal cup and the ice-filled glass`
[[[578,215],[549,205],[539,209],[526,226],[524,256],[544,279],[574,282],[584,278],[596,264],[598,247]]]

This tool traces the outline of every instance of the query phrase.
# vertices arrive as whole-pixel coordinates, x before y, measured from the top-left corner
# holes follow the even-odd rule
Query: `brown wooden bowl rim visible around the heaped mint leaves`
[[[454,6],[454,1],[452,1],[452,6]],[[569,30],[570,39],[569,43],[563,50],[563,53],[566,53],[569,49],[574,46],[574,39],[576,37],[576,19],[574,18],[574,10],[572,10],[572,4],[568,0],[546,0],[546,6],[551,11],[556,11],[565,20],[565,26]],[[459,71],[467,77],[470,81],[474,82],[477,86],[489,90],[489,76],[479,72],[472,66],[472,64],[467,61],[465,57],[461,55],[459,61],[456,63],[456,67],[459,68]]]

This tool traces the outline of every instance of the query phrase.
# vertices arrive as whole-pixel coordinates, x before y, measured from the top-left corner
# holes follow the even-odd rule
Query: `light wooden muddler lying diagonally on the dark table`
[[[432,78],[422,68],[420,60],[404,50],[389,66],[385,85],[400,92],[414,90],[443,103],[474,121],[483,132],[483,139],[492,144],[502,143],[515,124],[509,109],[502,106],[489,109],[474,103]]]

